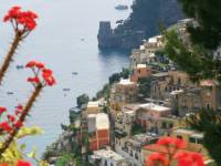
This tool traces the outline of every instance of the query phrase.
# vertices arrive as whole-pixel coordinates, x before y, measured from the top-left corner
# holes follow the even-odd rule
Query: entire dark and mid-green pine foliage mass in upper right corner
[[[165,32],[166,52],[194,81],[201,79],[221,81],[221,61],[213,59],[213,50],[221,44],[221,2],[219,0],[180,0],[180,2],[186,14],[196,19],[199,25],[188,24],[190,45],[180,40],[176,30]]]

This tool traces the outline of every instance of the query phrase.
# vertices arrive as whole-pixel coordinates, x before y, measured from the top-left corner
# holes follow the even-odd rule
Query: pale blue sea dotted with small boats
[[[11,69],[0,87],[0,105],[9,110],[18,103],[25,103],[32,86],[25,82],[30,72],[17,70],[17,64],[29,60],[45,62],[54,70],[57,85],[48,87],[38,98],[27,125],[38,125],[44,134],[25,139],[28,147],[36,146],[42,154],[62,132],[60,124],[69,124],[69,108],[75,105],[75,97],[82,93],[93,96],[108,76],[128,66],[128,54],[124,52],[99,52],[96,34],[101,20],[125,19],[128,11],[116,11],[120,0],[0,0],[0,18],[14,4],[39,13],[36,30],[21,44]],[[131,0],[124,2],[130,4]],[[12,40],[12,29],[0,22],[0,58],[6,54]],[[81,39],[85,39],[82,41]],[[78,72],[78,75],[72,75]],[[71,89],[63,92],[63,89]],[[8,91],[14,92],[7,95]]]

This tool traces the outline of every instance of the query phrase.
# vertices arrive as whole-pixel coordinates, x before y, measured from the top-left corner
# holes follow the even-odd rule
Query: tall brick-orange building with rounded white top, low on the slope
[[[90,151],[98,151],[109,145],[109,120],[107,114],[90,114],[87,116],[87,128]]]

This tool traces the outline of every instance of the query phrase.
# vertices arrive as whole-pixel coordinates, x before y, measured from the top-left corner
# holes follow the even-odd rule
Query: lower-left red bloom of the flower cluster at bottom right
[[[156,153],[148,157],[146,165],[155,166],[156,164],[161,164],[162,166],[168,165],[168,159],[164,154]]]

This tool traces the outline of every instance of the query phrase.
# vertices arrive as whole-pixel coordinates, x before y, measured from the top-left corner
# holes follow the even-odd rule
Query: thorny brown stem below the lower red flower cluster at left
[[[35,102],[36,97],[40,95],[40,92],[43,90],[42,84],[39,84],[38,86],[35,86],[34,92],[32,93],[31,97],[29,98],[19,121],[21,123],[23,123],[25,121],[25,117],[28,116],[31,107],[33,106],[33,103]],[[14,127],[13,131],[9,134],[8,138],[4,141],[4,143],[2,144],[2,147],[0,148],[0,158],[2,157],[2,154],[7,151],[7,148],[10,146],[10,144],[12,143],[13,138],[15,137],[15,135],[18,134],[20,127],[17,128]]]

